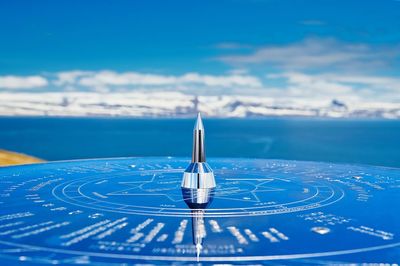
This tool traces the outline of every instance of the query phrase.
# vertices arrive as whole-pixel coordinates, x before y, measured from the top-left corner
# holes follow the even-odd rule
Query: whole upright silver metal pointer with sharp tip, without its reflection
[[[206,163],[204,149],[204,126],[200,113],[197,115],[193,129],[192,162],[183,173],[182,188],[209,189],[214,188],[215,178],[211,167]]]

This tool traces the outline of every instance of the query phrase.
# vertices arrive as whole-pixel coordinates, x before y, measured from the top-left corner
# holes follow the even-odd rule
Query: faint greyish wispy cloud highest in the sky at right
[[[232,65],[266,63],[285,69],[318,67],[344,68],[387,65],[399,56],[398,47],[372,47],[366,44],[339,42],[332,38],[308,38],[282,46],[265,46],[248,54],[231,54],[216,59]]]

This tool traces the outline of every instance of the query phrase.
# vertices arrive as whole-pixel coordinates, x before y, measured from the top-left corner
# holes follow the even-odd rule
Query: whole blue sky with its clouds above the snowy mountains
[[[0,25],[3,91],[400,94],[396,0],[1,1]]]

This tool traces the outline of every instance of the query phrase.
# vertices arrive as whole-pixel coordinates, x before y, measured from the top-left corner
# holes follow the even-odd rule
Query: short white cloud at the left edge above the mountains
[[[0,76],[1,89],[31,89],[48,85],[42,76]]]

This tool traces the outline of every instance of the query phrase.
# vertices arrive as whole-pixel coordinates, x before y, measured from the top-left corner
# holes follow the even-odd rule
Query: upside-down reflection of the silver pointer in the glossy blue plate
[[[197,261],[200,261],[200,252],[203,240],[207,235],[204,214],[214,197],[214,189],[187,189],[182,188],[182,196],[192,213],[192,237],[196,247]]]

